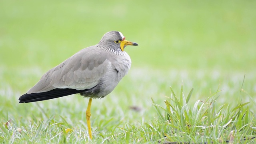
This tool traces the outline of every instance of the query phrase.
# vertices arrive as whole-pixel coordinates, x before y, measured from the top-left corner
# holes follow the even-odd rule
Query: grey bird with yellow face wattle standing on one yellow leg
[[[20,96],[19,103],[50,100],[72,94],[89,98],[86,121],[88,135],[92,140],[92,99],[104,98],[110,94],[128,73],[131,59],[124,51],[128,45],[138,46],[135,42],[125,40],[121,32],[107,32],[98,44],[80,50],[46,72],[38,83]]]

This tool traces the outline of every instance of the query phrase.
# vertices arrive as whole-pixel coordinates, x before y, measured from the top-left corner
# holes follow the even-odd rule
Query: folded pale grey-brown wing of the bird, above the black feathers
[[[95,48],[86,48],[46,72],[27,93],[47,92],[55,88],[93,88],[111,68],[106,54]]]

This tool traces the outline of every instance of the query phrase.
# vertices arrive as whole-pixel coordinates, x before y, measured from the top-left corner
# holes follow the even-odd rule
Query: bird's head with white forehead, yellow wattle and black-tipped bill
[[[125,40],[124,35],[118,31],[107,32],[98,43],[100,48],[108,48],[117,52],[124,51],[124,48],[128,45],[138,46],[135,42]]]

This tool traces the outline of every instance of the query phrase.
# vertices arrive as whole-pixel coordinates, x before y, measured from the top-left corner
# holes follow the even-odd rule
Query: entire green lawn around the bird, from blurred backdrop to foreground
[[[230,134],[237,143],[255,136],[255,6],[2,0],[0,143],[90,142],[87,99],[19,104],[18,98],[111,30],[139,46],[125,49],[132,59],[128,75],[106,98],[92,101],[92,143],[216,143]]]

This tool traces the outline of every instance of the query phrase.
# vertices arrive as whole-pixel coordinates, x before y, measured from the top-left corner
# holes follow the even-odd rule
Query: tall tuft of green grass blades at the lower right
[[[250,102],[238,102],[236,107],[218,106],[216,90],[206,100],[197,100],[191,107],[188,103],[193,89],[185,97],[181,86],[178,97],[170,87],[172,95],[165,100],[166,108],[154,103],[158,113],[157,123],[164,126],[158,133],[163,141],[171,142],[254,142],[255,115],[248,107]],[[164,114],[162,114],[164,112]]]

